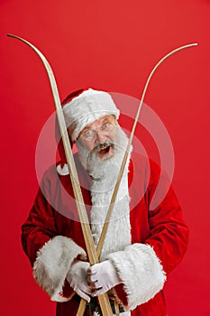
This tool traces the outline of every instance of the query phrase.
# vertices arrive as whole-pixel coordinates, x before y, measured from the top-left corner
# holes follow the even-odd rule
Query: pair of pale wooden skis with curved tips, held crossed
[[[155,65],[153,70],[151,70],[151,74],[148,77],[148,79],[146,81],[146,84],[145,84],[145,87],[144,87],[143,92],[142,92],[142,98],[141,98],[141,101],[140,101],[140,104],[139,104],[139,107],[138,107],[138,110],[137,110],[137,114],[136,114],[134,123],[132,125],[132,133],[130,135],[129,142],[127,144],[125,153],[123,155],[123,162],[122,162],[122,165],[121,165],[121,168],[120,168],[120,172],[119,172],[118,178],[117,178],[115,186],[114,186],[114,192],[113,192],[113,196],[112,196],[109,208],[107,210],[107,214],[106,214],[106,218],[105,218],[105,224],[104,224],[104,227],[103,227],[103,230],[102,230],[102,234],[101,234],[101,237],[99,239],[99,242],[98,242],[98,245],[97,245],[97,248],[96,248],[96,246],[94,244],[94,239],[92,237],[91,229],[90,229],[90,226],[89,226],[89,222],[88,222],[88,218],[87,218],[87,211],[86,211],[86,208],[85,208],[85,203],[84,203],[84,200],[83,200],[81,188],[80,188],[79,181],[78,181],[78,172],[77,172],[75,161],[74,161],[74,158],[73,158],[73,153],[71,151],[71,146],[70,146],[70,142],[69,142],[69,138],[68,138],[67,126],[66,126],[64,115],[63,115],[63,110],[62,110],[62,107],[61,107],[61,104],[60,104],[59,91],[58,91],[56,80],[55,80],[54,74],[53,74],[53,72],[51,70],[50,64],[49,64],[48,60],[46,60],[44,55],[41,53],[41,51],[39,51],[35,46],[33,46],[31,42],[27,42],[23,38],[15,36],[13,34],[8,34],[8,36],[13,37],[14,39],[20,40],[20,41],[26,43],[28,46],[30,46],[32,48],[32,50],[35,51],[38,54],[38,56],[40,57],[41,61],[43,62],[43,65],[44,65],[45,69],[47,70],[47,74],[48,74],[48,77],[50,79],[50,87],[51,87],[51,91],[52,91],[52,96],[54,98],[54,103],[55,103],[55,107],[56,107],[56,112],[57,112],[57,117],[58,117],[58,122],[59,122],[60,135],[62,137],[64,151],[65,151],[66,159],[67,159],[67,163],[68,163],[68,172],[69,172],[69,175],[70,175],[70,181],[71,181],[71,184],[72,184],[72,188],[73,188],[73,191],[74,191],[75,200],[76,200],[76,204],[77,204],[77,208],[78,208],[78,217],[79,217],[79,220],[80,220],[80,223],[81,223],[83,237],[85,239],[85,243],[86,243],[86,246],[87,246],[87,255],[88,255],[88,258],[89,258],[90,265],[95,265],[95,264],[97,264],[99,262],[98,258],[99,258],[100,254],[101,254],[101,250],[102,250],[103,243],[104,243],[104,240],[105,240],[105,234],[106,234],[106,231],[107,231],[107,228],[108,228],[109,220],[110,220],[111,215],[112,215],[112,210],[113,210],[113,207],[114,207],[114,201],[115,201],[115,198],[116,198],[116,195],[117,195],[117,191],[119,189],[119,186],[120,186],[120,183],[121,183],[121,180],[122,180],[122,177],[123,177],[123,171],[124,171],[127,159],[128,159],[128,153],[130,152],[130,148],[131,148],[131,145],[132,145],[133,135],[134,135],[135,128],[136,128],[136,125],[137,125],[137,122],[138,122],[138,119],[139,119],[139,116],[140,116],[140,113],[141,113],[143,100],[144,100],[144,97],[145,97],[146,90],[148,88],[149,82],[151,80],[151,77],[152,77],[153,73],[155,72],[155,70],[157,70],[157,68],[160,66],[160,64],[164,60],[166,60],[169,56],[171,56],[172,54],[174,54],[177,51],[181,51],[181,50],[186,49],[188,47],[196,46],[197,43],[192,43],[192,44],[188,44],[188,45],[185,45],[185,46],[181,46],[181,47],[178,47],[178,49],[176,49],[174,51],[170,51],[167,55],[165,55]],[[109,298],[108,298],[108,294],[107,293],[105,293],[103,295],[99,295],[98,296],[98,301],[99,301],[99,304],[100,304],[103,316],[110,316],[110,315],[113,314],[111,306],[110,306],[110,303],[109,303]],[[79,307],[78,307],[77,316],[82,316],[84,314],[85,309],[86,309],[86,301],[82,299],[80,304],[79,304]]]

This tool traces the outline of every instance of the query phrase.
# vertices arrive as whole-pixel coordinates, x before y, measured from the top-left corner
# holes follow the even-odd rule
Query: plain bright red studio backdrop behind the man
[[[169,316],[210,314],[209,73],[210,1],[0,1],[1,45],[1,315],[54,314],[32,279],[20,228],[38,188],[37,139],[54,111],[39,58],[48,58],[60,98],[93,86],[140,98],[154,64],[178,46],[198,42],[161,65],[146,95],[175,151],[173,185],[190,228],[187,255],[166,286]]]

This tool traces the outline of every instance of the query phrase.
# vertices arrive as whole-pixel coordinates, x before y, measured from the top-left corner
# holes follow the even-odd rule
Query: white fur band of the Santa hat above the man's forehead
[[[120,113],[109,93],[92,88],[68,102],[63,107],[63,112],[67,126],[74,124],[71,135],[72,142],[75,142],[78,134],[96,119],[108,115],[114,115],[118,118]]]

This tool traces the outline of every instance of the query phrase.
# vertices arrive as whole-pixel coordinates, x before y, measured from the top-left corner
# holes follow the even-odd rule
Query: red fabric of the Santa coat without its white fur
[[[77,154],[76,165],[84,200],[89,205],[87,206],[88,214],[90,210],[88,188],[90,188],[91,181],[78,162]],[[135,156],[135,154],[132,154],[130,169],[132,243],[151,245],[160,258],[164,271],[169,274],[184,256],[188,241],[188,229],[183,221],[178,200],[174,191],[170,188],[159,207],[149,211],[150,201],[159,181],[160,169],[155,163],[151,161],[148,163],[145,158]],[[149,181],[149,185],[145,191],[147,181]],[[23,224],[23,248],[31,263],[35,260],[37,250],[54,236],[70,237],[79,246],[86,249],[81,227],[77,220],[76,204],[72,201],[69,203],[67,191],[70,196],[73,196],[69,176],[59,176],[58,178],[56,168],[52,166],[45,172],[41,182],[41,190],[37,194],[29,218]],[[140,195],[142,195],[142,199],[138,202]],[[126,303],[123,286],[117,286],[116,291],[119,298]],[[57,316],[75,315],[73,306],[76,308],[76,305],[78,306],[78,302],[75,301],[58,303]],[[144,303],[132,311],[132,316],[137,315],[166,316],[163,293],[158,293],[150,302]]]

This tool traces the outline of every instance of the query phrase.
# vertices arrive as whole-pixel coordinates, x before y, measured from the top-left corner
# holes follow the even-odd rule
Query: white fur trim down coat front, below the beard
[[[112,172],[112,170],[110,170],[110,172]],[[126,175],[123,178],[126,179]],[[125,246],[131,244],[132,237],[129,209],[130,198],[128,196],[126,185],[123,185],[124,183],[125,181],[121,182],[120,189],[114,202],[112,217],[108,224],[100,261],[104,261],[108,254],[118,250],[123,250]],[[94,184],[97,183],[94,182]],[[97,192],[95,195],[93,194],[93,187],[96,190],[96,186],[92,186],[93,206],[91,209],[91,230],[95,244],[97,245],[105,223],[105,216],[112,196],[110,193],[112,193],[113,190],[106,191],[101,194]],[[102,185],[100,186],[100,189],[101,188]]]

